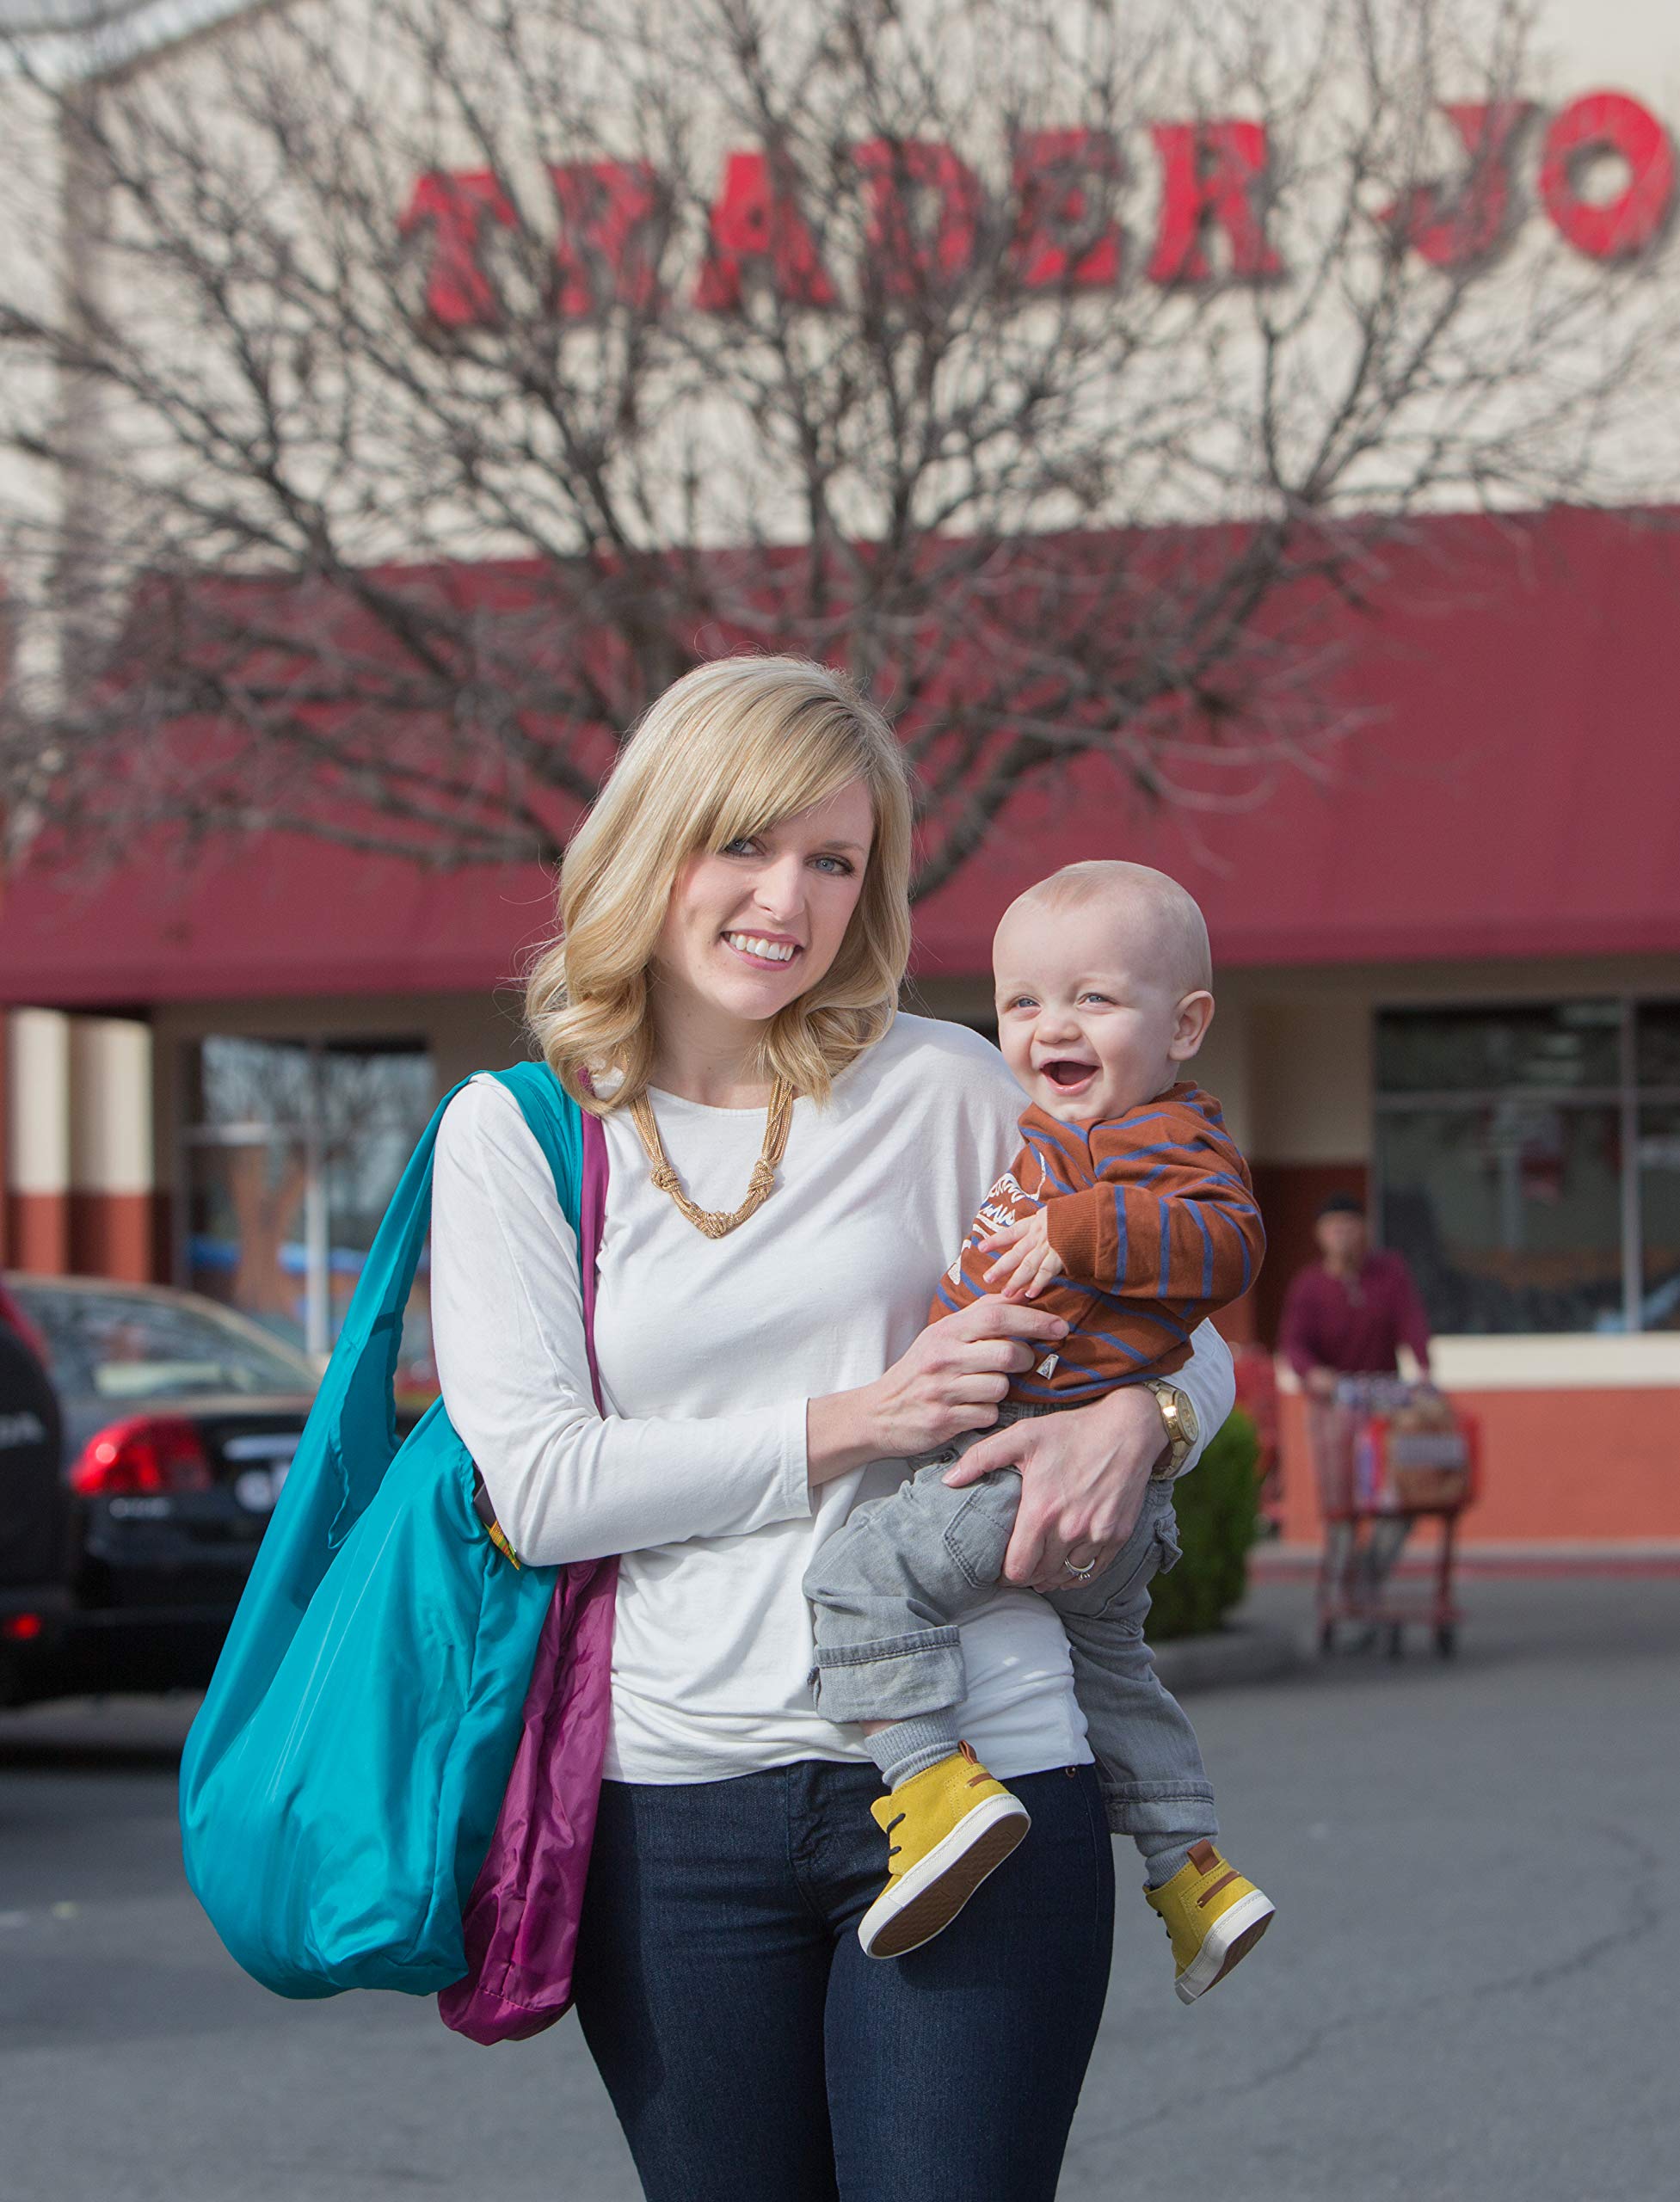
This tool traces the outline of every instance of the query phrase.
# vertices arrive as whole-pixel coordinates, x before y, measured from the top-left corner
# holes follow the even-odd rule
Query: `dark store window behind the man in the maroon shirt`
[[[1374,1169],[1436,1330],[1680,1328],[1680,1004],[1378,1013]]]

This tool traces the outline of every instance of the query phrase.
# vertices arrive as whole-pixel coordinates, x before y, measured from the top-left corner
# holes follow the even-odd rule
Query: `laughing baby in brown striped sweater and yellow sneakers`
[[[929,1321],[982,1293],[1035,1299],[1068,1337],[1011,1383],[1000,1422],[1147,1383],[1167,1453],[1138,1524],[1097,1572],[1066,1561],[1050,1592],[1108,1803],[1145,1863],[1185,2004],[1224,1980],[1273,1907],[1213,1847],[1213,1790],[1196,1731],[1163,1689],[1143,1621],[1149,1579],[1178,1559],[1171,1478],[1196,1445],[1187,1394],[1163,1378],[1189,1332],[1248,1290],[1264,1253],[1248,1167],[1220,1105],[1176,1083],[1213,1020],[1207,925],[1191,896],[1138,863],[1072,863],[1028,887],[997,927],[997,1037],[1030,1097],[1022,1147],[993,1185]],[[1028,1830],[1017,1797],[958,1740],[958,1623],[995,1596],[1022,1478],[951,1489],[980,1431],[912,1462],[852,1508],[806,1574],[817,1704],[865,1724],[890,1797],[872,1806],[890,1878],[859,1936],[896,1958],[940,1933]]]

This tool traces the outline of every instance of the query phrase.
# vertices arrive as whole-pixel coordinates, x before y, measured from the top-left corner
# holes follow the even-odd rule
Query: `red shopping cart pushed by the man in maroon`
[[[1332,1400],[1308,1405],[1308,1427],[1323,1511],[1319,1652],[1334,1652],[1348,1623],[1385,1640],[1389,1658],[1400,1658],[1407,1627],[1431,1629],[1451,1658],[1462,1621],[1458,1517],[1480,1486],[1475,1418],[1431,1385],[1343,1376]],[[1407,1590],[1392,1570],[1414,1522],[1440,1522],[1440,1546],[1427,1583]]]

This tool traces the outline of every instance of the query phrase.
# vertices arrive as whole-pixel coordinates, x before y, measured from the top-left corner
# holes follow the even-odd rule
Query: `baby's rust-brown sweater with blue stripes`
[[[929,1321],[984,1295],[997,1257],[980,1240],[1037,1209],[1066,1275],[1033,1306],[1070,1330],[1008,1387],[1024,1405],[1074,1407],[1182,1367],[1196,1323],[1248,1290],[1266,1251],[1248,1165],[1200,1086],[1094,1125],[1028,1108],[1019,1154],[986,1193]]]

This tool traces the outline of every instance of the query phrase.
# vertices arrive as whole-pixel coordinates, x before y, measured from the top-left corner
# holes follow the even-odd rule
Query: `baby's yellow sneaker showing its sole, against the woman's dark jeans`
[[[1022,1799],[991,1779],[969,1744],[879,1797],[870,1812],[892,1843],[887,1885],[857,1929],[870,1958],[903,1958],[931,1942],[1033,1825]]]

